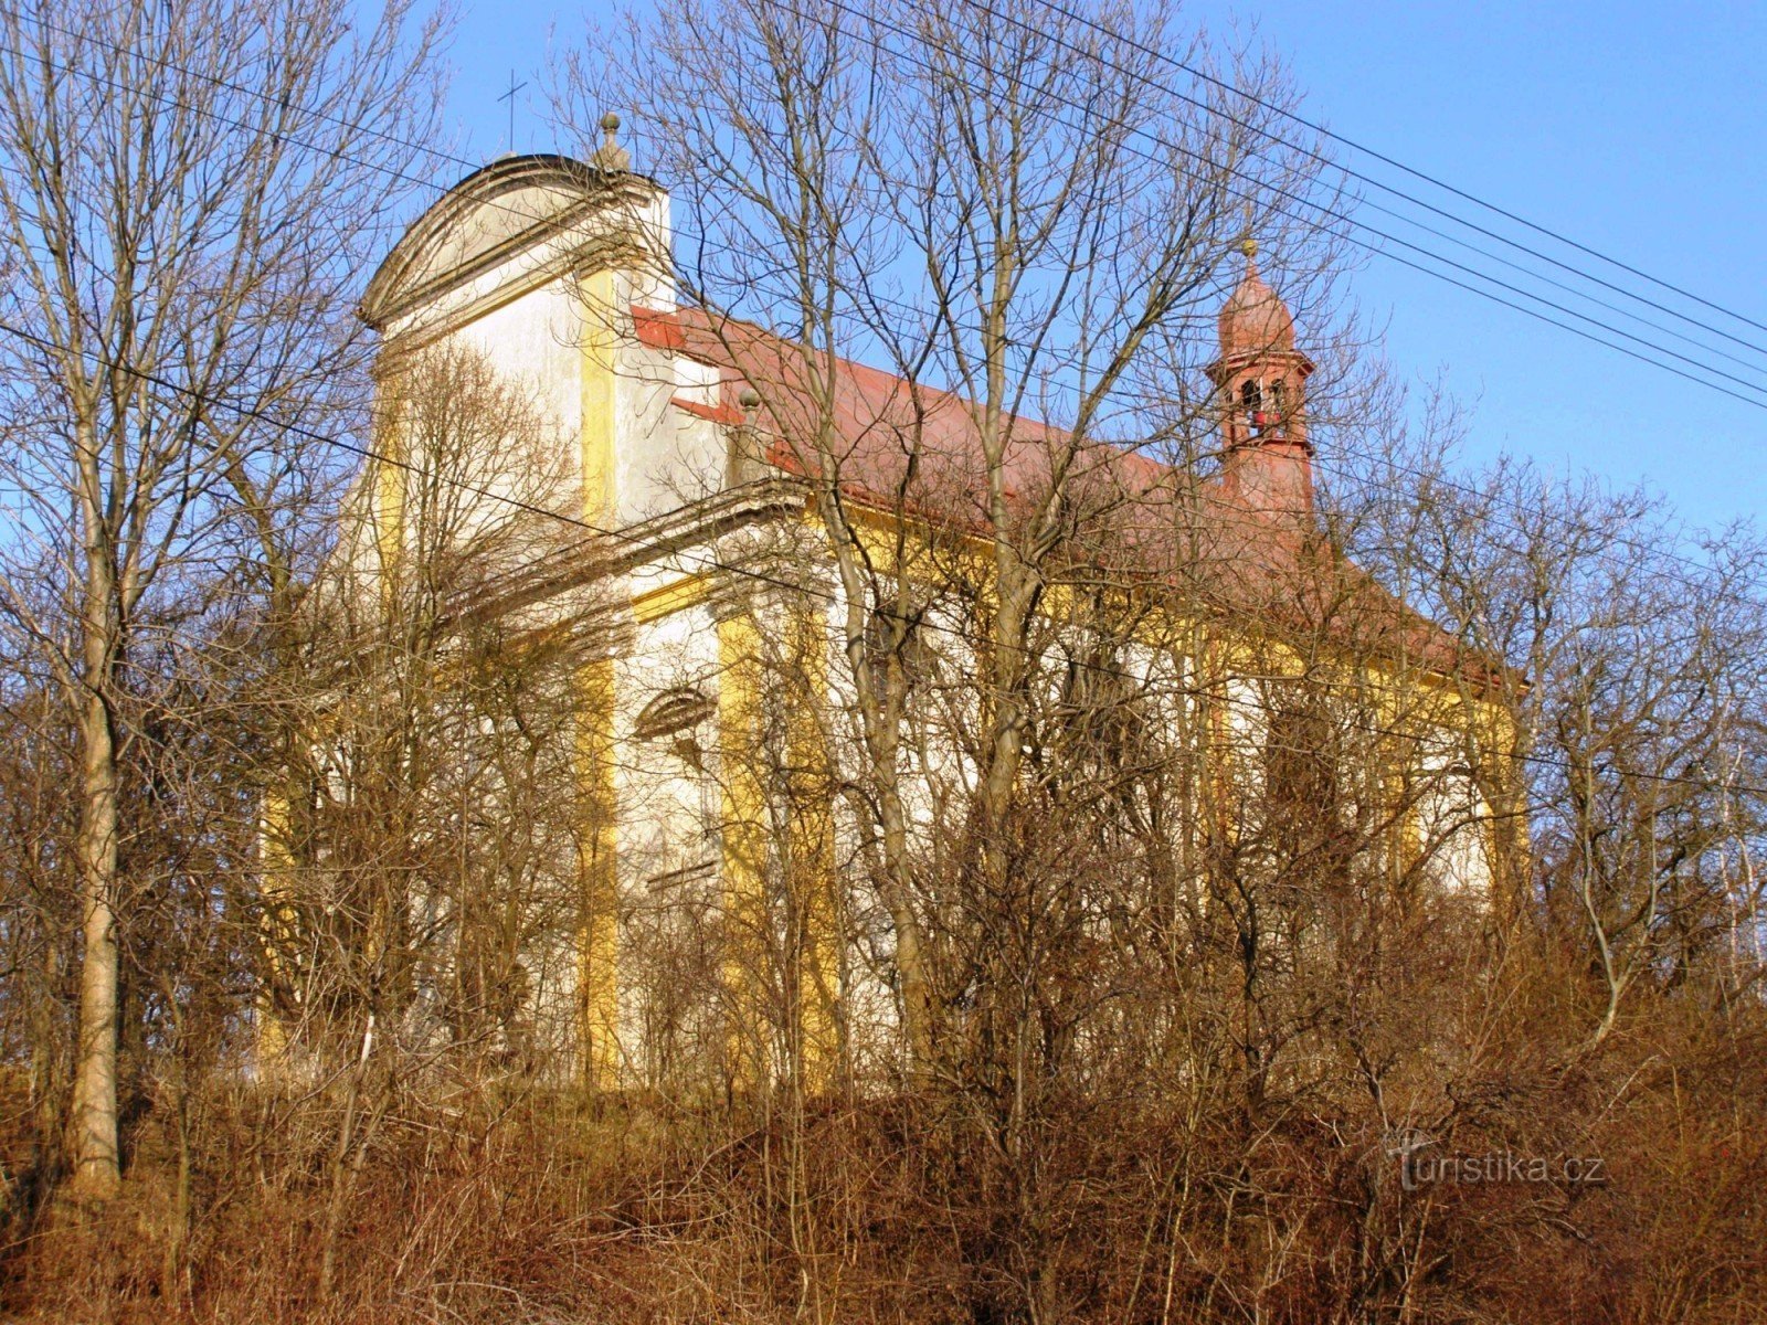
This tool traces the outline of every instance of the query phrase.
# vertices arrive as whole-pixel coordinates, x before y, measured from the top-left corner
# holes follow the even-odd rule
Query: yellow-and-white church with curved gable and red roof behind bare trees
[[[474,590],[463,618],[571,636],[578,650],[558,700],[573,714],[581,832],[567,869],[578,906],[550,947],[523,958],[523,998],[608,1088],[666,1088],[696,1074],[728,1086],[785,1064],[804,1079],[827,1079],[836,1065],[848,1076],[887,1072],[910,996],[898,961],[903,910],[919,906],[928,933],[915,942],[931,947],[940,919],[931,883],[915,903],[878,882],[884,830],[862,822],[875,799],[857,754],[866,742],[852,671],[882,666],[873,654],[894,659],[889,675],[906,696],[891,710],[906,733],[899,836],[924,860],[942,860],[963,836],[956,806],[975,774],[961,728],[986,707],[975,682],[986,571],[972,574],[986,565],[986,539],[961,514],[974,509],[963,495],[975,477],[975,422],[956,396],[857,362],[829,364],[832,385],[808,382],[788,341],[679,302],[657,258],[668,244],[668,194],[629,168],[610,129],[594,161],[511,155],[461,180],[408,228],[362,300],[382,337],[383,383],[424,355],[472,355],[525,392],[557,443],[557,473],[544,484],[516,472],[521,449],[498,456],[495,445],[461,482],[486,519],[548,530],[512,544],[521,553]],[[1076,486],[1145,496],[1119,500],[1106,551],[1085,556],[1141,558],[1138,585],[1182,579],[1182,594],[1170,590],[1182,602],[1138,606],[1106,664],[1073,643],[1096,627],[1051,625],[1037,648],[1073,655],[1051,668],[1050,685],[1092,694],[1088,675],[1113,684],[1129,675],[1143,689],[1168,678],[1161,698],[1134,710],[1138,724],[1189,724],[1187,740],[1214,751],[1207,767],[1193,765],[1202,768],[1186,811],[1194,822],[1163,829],[1182,839],[1172,850],[1203,852],[1209,837],[1217,855],[1242,852],[1232,869],[1267,867],[1272,878],[1281,862],[1256,860],[1288,850],[1286,829],[1269,827],[1279,816],[1253,802],[1281,786],[1316,800],[1320,777],[1334,788],[1341,779],[1331,768],[1295,772],[1293,760],[1285,772],[1265,756],[1316,744],[1322,723],[1355,708],[1345,731],[1366,737],[1368,749],[1403,737],[1407,772],[1384,774],[1376,790],[1369,779],[1354,793],[1336,790],[1352,827],[1332,832],[1366,825],[1369,799],[1401,797],[1378,832],[1354,830],[1380,837],[1394,876],[1412,871],[1470,905],[1493,905],[1495,751],[1505,730],[1497,673],[1331,548],[1315,514],[1308,438],[1315,366],[1249,242],[1232,261],[1242,261],[1242,277],[1221,307],[1203,387],[1217,466],[1170,482],[1154,459],[1097,449]],[[912,473],[899,445],[905,419],[921,438]],[[853,581],[829,555],[813,496],[822,475],[793,445],[804,420],[841,438],[839,495],[873,571],[887,564],[924,588],[912,624],[876,608],[862,638],[850,631]],[[1014,482],[1028,489],[1048,481],[1037,456],[1055,429],[1016,424],[1025,459],[1014,461]],[[345,512],[366,532],[339,551],[345,576],[362,585],[413,555],[408,488],[412,475],[433,477],[436,458],[399,428],[398,417],[383,420],[380,459]],[[1182,555],[1170,546],[1173,512],[1186,514]],[[938,576],[967,588],[942,595]],[[1044,611],[1080,620],[1083,597],[1050,590]],[[1129,597],[1141,602],[1147,592]],[[926,680],[935,673],[947,689]],[[1309,677],[1331,677],[1320,685],[1354,698],[1272,698],[1299,694]],[[1074,703],[1051,698],[1050,712]],[[940,705],[944,717],[928,717]],[[1087,721],[1078,738],[1097,740],[1103,719]],[[1048,756],[1025,758],[1041,767]],[[1255,820],[1274,843],[1262,855],[1242,843]],[[1292,855],[1332,860],[1329,837]],[[1172,887],[1193,887],[1186,878],[1202,869],[1184,855]],[[961,1014],[961,989],[935,996]],[[767,1028],[739,1044],[744,1019]]]

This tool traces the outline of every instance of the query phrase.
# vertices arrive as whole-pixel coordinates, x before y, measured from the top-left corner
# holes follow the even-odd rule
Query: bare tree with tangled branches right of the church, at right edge
[[[1755,906],[1732,866],[1760,823],[1760,539],[1521,461],[1424,473],[1403,528],[1369,521],[1368,555],[1396,553],[1421,602],[1513,664],[1504,814],[1534,873],[1504,901],[1587,954],[1592,1048],[1636,986],[1716,975]]]

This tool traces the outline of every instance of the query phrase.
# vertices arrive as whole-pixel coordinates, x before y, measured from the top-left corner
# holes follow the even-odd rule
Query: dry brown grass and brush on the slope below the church
[[[322,1131],[267,1129],[267,1101],[233,1092],[194,1154],[182,1238],[148,1117],[120,1201],[16,1205],[4,1306],[217,1325],[1749,1320],[1767,1042],[1654,1014],[1597,1060],[1532,1071],[1518,1053],[1456,1086],[1454,1152],[1599,1159],[1592,1182],[1407,1192],[1352,1102],[1248,1131],[1226,1111],[1198,1125],[1180,1099],[1071,1101],[1016,1155],[952,1097],[668,1122],[544,1095],[447,1125],[413,1113],[357,1178],[325,1298]]]

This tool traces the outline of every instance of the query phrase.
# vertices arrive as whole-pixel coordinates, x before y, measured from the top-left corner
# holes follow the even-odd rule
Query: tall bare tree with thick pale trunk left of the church
[[[334,424],[350,274],[389,219],[383,166],[426,132],[433,28],[403,7],[118,0],[12,7],[4,32],[7,613],[80,742],[74,1187],[117,1189],[124,693],[155,594],[281,428]],[[315,115],[307,106],[323,102]],[[247,498],[249,500],[249,498]],[[23,583],[53,578],[44,620]]]

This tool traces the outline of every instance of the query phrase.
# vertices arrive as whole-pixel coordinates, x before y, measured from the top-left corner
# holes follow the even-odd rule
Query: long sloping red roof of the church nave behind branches
[[[746,385],[767,463],[841,484],[848,500],[906,511],[965,532],[993,528],[974,403],[866,364],[809,353],[762,327],[698,309],[633,307],[638,341],[723,371],[716,405],[677,398],[696,417],[737,424]],[[832,385],[832,390],[830,390]],[[825,413],[827,412],[827,417]],[[1035,511],[1055,466],[1069,507],[1069,564],[1196,592],[1219,611],[1290,629],[1325,627],[1384,652],[1488,685],[1507,675],[1387,594],[1343,556],[1311,516],[1248,509],[1217,479],[1106,443],[1074,443],[1050,424],[1007,415],[1009,518]],[[1302,461],[1304,463],[1304,461]]]

